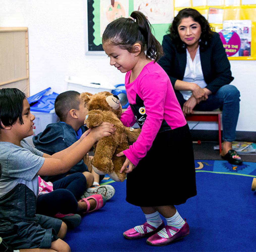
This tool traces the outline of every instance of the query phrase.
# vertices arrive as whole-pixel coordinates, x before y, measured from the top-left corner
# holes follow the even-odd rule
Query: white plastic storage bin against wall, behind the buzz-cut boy
[[[69,76],[65,80],[68,83],[68,90],[74,90],[79,93],[88,92],[96,94],[102,91],[108,91],[111,93],[115,89],[115,86],[108,83],[95,83],[90,82],[78,77]]]

